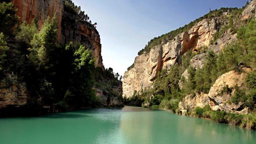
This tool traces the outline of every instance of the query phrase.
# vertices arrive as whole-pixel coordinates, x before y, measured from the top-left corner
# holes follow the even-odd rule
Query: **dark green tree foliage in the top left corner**
[[[12,34],[14,26],[18,23],[12,3],[0,3],[0,20],[0,32],[3,32],[6,36]]]

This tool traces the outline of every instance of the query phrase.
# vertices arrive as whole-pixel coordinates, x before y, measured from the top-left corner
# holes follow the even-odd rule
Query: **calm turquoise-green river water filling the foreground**
[[[256,131],[125,106],[0,118],[0,144],[7,143],[256,143]]]

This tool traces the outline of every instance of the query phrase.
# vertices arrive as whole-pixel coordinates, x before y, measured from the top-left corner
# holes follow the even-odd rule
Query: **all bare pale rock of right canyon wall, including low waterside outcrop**
[[[232,31],[230,26],[225,26],[231,21],[230,24],[237,29],[239,26],[247,24],[246,20],[255,19],[255,7],[256,1],[253,0],[242,9],[240,15],[235,16],[236,18],[231,17],[230,12],[221,13],[213,18],[204,17],[189,30],[178,34],[172,40],[166,43],[162,42],[162,44],[151,48],[149,53],[144,51],[143,54],[135,58],[134,66],[124,73],[123,97],[128,98],[133,96],[135,92],[138,95],[147,88],[153,88],[158,73],[163,69],[169,71],[170,67],[176,63],[182,64],[181,56],[186,54],[188,50],[194,52],[189,66],[195,69],[202,68],[207,51],[218,54],[227,44],[237,41],[236,31]],[[209,93],[201,92],[184,96],[179,101],[176,112],[186,114],[187,111],[191,112],[196,107],[204,107],[209,104],[212,110],[239,114],[249,113],[248,107],[243,107],[243,102],[231,102],[236,90],[244,88],[247,73],[252,71],[250,67],[243,64],[237,66],[242,70],[241,73],[232,70],[222,74],[213,83]],[[188,69],[183,72],[181,77],[188,78]],[[182,89],[182,87],[183,84],[180,80],[179,88]],[[156,95],[159,93],[158,91],[155,92]],[[152,94],[150,100],[154,96]],[[149,103],[148,101],[146,103]],[[150,105],[148,104],[148,106]]]

